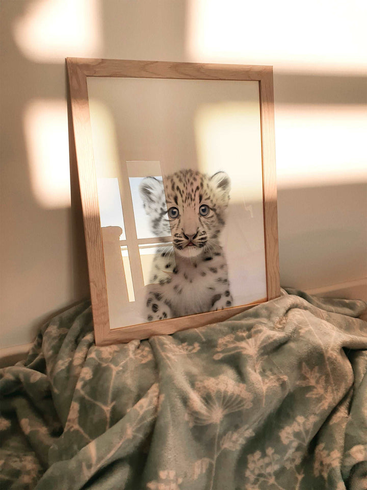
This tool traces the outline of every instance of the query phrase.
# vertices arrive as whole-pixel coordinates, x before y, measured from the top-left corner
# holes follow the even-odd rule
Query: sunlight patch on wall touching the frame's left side
[[[34,100],[24,111],[24,137],[36,200],[46,208],[70,206],[70,163],[65,101]]]

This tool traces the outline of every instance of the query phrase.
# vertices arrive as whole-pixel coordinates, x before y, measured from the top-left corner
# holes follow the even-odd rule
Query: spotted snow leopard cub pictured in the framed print
[[[229,201],[228,175],[191,169],[162,181],[142,180],[139,191],[155,236],[173,248],[156,254],[146,301],[148,321],[232,306],[227,263],[219,241]]]

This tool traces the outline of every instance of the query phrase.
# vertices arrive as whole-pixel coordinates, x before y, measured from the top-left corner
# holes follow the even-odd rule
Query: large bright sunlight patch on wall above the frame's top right
[[[190,61],[362,73],[366,18],[363,0],[188,0],[188,54]]]

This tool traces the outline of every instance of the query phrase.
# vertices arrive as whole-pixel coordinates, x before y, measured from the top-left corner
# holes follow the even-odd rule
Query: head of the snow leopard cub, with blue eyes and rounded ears
[[[165,187],[162,181],[146,177],[140,193],[154,235],[172,235],[178,255],[196,257],[219,246],[229,188],[224,172],[209,177],[181,170],[165,179]]]

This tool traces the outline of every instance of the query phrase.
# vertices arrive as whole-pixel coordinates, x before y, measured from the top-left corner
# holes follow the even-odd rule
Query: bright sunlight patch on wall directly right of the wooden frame
[[[279,188],[367,181],[363,106],[276,105]]]

